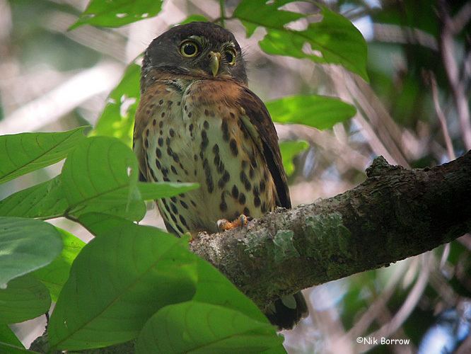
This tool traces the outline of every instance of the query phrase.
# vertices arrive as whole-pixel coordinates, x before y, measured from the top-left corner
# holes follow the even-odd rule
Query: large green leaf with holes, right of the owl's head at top
[[[322,21],[309,23],[306,30],[291,30],[286,25],[308,16],[279,7],[296,0],[243,0],[233,16],[239,18],[250,36],[258,26],[267,30],[260,41],[264,52],[306,58],[321,64],[340,64],[368,81],[366,42],[355,26],[325,6],[320,6]]]

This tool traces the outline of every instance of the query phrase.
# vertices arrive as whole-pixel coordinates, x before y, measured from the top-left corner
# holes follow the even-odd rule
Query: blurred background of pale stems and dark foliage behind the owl
[[[153,38],[188,16],[221,19],[219,1],[154,2],[154,12],[161,6],[157,17],[151,18],[149,9],[142,14],[149,18],[122,27],[82,25],[67,30],[88,1],[0,0],[0,134],[95,126],[107,103],[110,115],[132,118],[136,101],[129,97],[133,96],[120,94],[107,100],[127,65],[139,63],[136,58]],[[223,3],[230,17],[239,1]],[[364,180],[374,156],[383,155],[390,164],[424,168],[471,149],[471,1],[328,0],[324,4],[352,21],[366,39],[369,84],[342,67],[267,55],[258,45],[264,29],[257,28],[246,38],[240,21],[224,21],[245,51],[250,88],[264,101],[315,93],[356,107],[353,119],[328,130],[277,124],[293,205],[353,188]],[[318,13],[312,1],[283,9],[313,13],[313,22]],[[297,25],[302,30],[306,23]],[[135,74],[139,67],[131,66],[129,72]],[[122,84],[134,97],[138,95],[138,87]],[[300,116],[309,118],[306,113]],[[130,132],[132,119],[121,123],[103,128]],[[1,185],[0,198],[52,178],[60,167]],[[147,214],[144,223],[163,227],[155,210]],[[89,239],[76,224],[53,222]],[[469,353],[470,340],[465,337],[471,319],[470,249],[467,234],[387,268],[305,290],[310,316],[284,333],[285,348],[289,353],[415,353],[420,346],[423,353],[439,353],[427,343],[440,349],[439,343],[449,342],[448,352],[460,346],[459,353]],[[43,326],[43,319],[36,319],[17,326],[16,332],[29,343]],[[410,343],[385,346],[359,343],[358,337],[409,338]]]

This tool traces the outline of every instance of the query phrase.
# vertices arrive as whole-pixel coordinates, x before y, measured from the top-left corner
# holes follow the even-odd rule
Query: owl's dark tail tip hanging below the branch
[[[269,321],[279,329],[292,329],[301,318],[308,314],[308,305],[301,292],[277,299],[265,312]]]

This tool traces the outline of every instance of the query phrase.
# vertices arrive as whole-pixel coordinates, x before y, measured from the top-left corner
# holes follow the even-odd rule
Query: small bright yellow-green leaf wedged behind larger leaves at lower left
[[[76,256],[83,249],[83,246],[86,245],[85,242],[73,234],[59,228],[57,230],[64,244],[61,254],[52,263],[33,273],[33,276],[49,289],[52,301],[54,302],[57,302],[57,297],[59,297],[62,287],[64,287],[65,282],[69,279],[72,262],[74,262]]]

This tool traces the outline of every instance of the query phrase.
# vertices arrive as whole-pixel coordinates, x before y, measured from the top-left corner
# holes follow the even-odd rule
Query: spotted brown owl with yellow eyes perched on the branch
[[[133,144],[141,179],[200,185],[156,201],[177,236],[243,227],[291,207],[277,132],[245,66],[234,35],[214,23],[170,28],[144,52]],[[306,314],[301,292],[266,313],[280,329]]]

